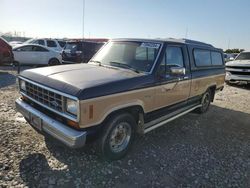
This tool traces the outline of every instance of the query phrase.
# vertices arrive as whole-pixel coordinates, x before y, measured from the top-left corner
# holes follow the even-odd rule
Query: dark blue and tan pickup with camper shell
[[[223,52],[192,40],[115,39],[87,64],[25,70],[16,107],[41,133],[71,148],[97,138],[115,160],[145,134],[206,112],[223,89]]]

